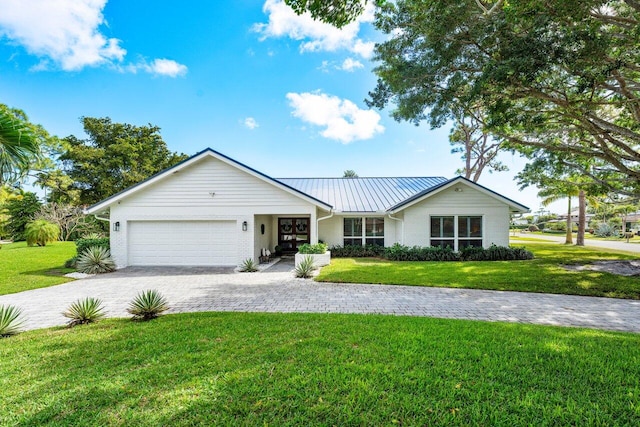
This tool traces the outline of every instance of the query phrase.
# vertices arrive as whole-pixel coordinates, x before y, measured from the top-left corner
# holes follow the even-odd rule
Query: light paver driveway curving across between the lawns
[[[127,316],[141,290],[157,289],[171,312],[384,313],[538,323],[640,332],[640,301],[471,289],[316,283],[285,266],[261,273],[194,268],[127,268],[90,279],[0,296],[22,308],[27,329],[63,325],[60,314],[86,296],[108,316]],[[280,270],[280,271],[278,271]],[[285,270],[285,271],[282,271]]]

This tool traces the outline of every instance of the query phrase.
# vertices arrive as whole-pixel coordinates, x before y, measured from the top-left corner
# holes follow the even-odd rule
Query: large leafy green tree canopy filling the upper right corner
[[[594,182],[640,188],[640,2],[398,0],[376,26],[389,39],[369,105],[437,127],[481,102],[512,147],[570,153],[564,166]]]

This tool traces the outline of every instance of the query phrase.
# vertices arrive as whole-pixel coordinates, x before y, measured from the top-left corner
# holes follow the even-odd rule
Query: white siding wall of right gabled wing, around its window
[[[429,217],[477,215],[483,217],[483,246],[509,246],[509,206],[464,184],[448,188],[405,209],[404,240],[408,246],[429,245]]]

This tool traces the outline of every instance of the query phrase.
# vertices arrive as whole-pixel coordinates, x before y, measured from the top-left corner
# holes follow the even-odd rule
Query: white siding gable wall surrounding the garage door
[[[257,260],[260,245],[267,243],[262,236],[256,243],[261,224],[256,218],[267,219],[265,226],[271,231],[265,231],[265,236],[273,236],[274,230],[269,227],[273,220],[269,222],[263,215],[308,216],[312,224],[316,218],[316,207],[306,200],[212,157],[134,192],[110,208],[111,224],[120,222],[120,231],[111,232],[111,252],[118,268],[128,265],[128,223],[132,221],[234,221],[234,264],[239,264],[247,258]],[[242,230],[244,221],[247,231]],[[312,241],[314,238],[317,233],[312,227]],[[275,245],[273,240],[268,243]]]

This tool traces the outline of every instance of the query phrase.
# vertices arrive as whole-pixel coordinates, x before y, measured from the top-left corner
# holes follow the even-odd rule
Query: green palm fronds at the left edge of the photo
[[[25,121],[0,105],[0,185],[23,177],[38,153],[38,139]]]

